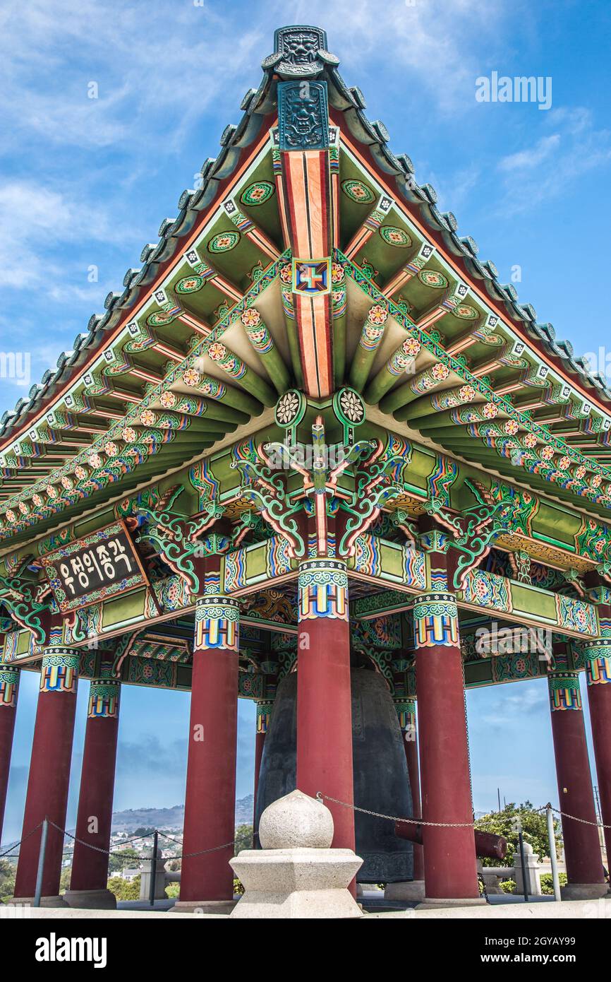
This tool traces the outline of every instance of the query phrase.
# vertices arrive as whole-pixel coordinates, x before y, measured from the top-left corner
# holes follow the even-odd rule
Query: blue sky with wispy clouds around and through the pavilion
[[[0,411],[72,350],[90,314],[122,289],[142,246],[157,241],[180,192],[237,122],[274,28],[289,23],[328,30],[340,72],[363,90],[370,118],[386,125],[395,152],[411,156],[418,180],[433,184],[501,282],[513,272],[520,299],[578,353],[607,345],[605,0],[5,0],[0,350],[29,354],[31,378],[0,378]],[[551,108],[477,101],[476,81],[492,72],[550,78]],[[569,278],[577,288],[570,293]],[[18,834],[23,814],[31,674],[22,689],[7,837]],[[493,805],[497,785],[508,800],[555,801],[545,683],[483,689],[468,702],[476,808]],[[126,687],[117,807],[182,800],[187,714],[187,695]],[[252,707],[240,703],[239,796],[251,789],[253,730]]]

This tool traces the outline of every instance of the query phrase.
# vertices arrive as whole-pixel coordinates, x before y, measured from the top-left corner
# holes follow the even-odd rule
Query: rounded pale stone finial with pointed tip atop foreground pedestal
[[[332,839],[331,811],[303,791],[273,801],[259,821],[259,843],[264,849],[328,849]]]

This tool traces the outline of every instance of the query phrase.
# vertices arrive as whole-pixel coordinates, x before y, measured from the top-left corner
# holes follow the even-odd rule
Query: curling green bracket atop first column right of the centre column
[[[464,509],[460,515],[451,515],[440,498],[433,498],[425,510],[451,533],[448,553],[454,554],[453,570],[448,585],[454,590],[464,587],[465,577],[489,553],[492,543],[511,528],[516,504],[512,501],[484,500],[481,488],[466,478],[465,484],[478,500],[478,504]],[[448,571],[449,573],[449,571]]]

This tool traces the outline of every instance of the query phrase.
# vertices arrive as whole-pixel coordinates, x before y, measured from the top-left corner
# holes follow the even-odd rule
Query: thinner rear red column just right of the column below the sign
[[[101,910],[117,906],[114,894],[107,889],[106,850],[110,846],[113,820],[119,694],[120,682],[113,678],[112,663],[103,663],[99,677],[89,687],[76,815],[77,841],[70,890],[64,895],[71,907]]]

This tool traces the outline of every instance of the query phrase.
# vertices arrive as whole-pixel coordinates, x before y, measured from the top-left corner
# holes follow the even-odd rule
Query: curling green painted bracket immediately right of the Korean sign
[[[140,532],[137,541],[151,542],[159,550],[170,569],[182,577],[191,593],[197,594],[200,590],[200,581],[193,559],[212,555],[217,551],[227,551],[229,539],[226,543],[216,540],[202,543],[202,533],[219,518],[223,518],[225,511],[213,499],[206,502],[203,515],[189,518],[174,510],[178,497],[183,491],[184,486],[180,484],[178,487],[170,488],[155,508],[147,505],[136,507],[135,511],[148,520],[147,530]]]

